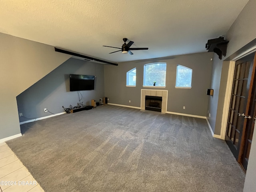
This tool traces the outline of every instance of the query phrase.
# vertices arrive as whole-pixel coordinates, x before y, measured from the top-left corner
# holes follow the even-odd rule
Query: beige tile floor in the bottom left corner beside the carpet
[[[0,143],[0,187],[0,192],[44,192],[5,142]]]

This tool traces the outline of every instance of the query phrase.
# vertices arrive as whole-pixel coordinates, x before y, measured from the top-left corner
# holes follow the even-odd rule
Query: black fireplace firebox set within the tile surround
[[[146,95],[145,110],[161,112],[162,111],[162,97]]]

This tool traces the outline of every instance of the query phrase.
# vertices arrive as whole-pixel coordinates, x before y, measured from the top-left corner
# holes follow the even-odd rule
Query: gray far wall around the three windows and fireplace
[[[213,53],[197,53],[122,62],[118,66],[104,66],[105,94],[110,103],[140,107],[140,90],[168,90],[168,112],[206,116]],[[166,88],[143,88],[144,64],[166,62]],[[193,70],[192,88],[176,89],[176,68],[183,65]],[[126,87],[126,72],[136,67],[136,87]],[[129,100],[131,102],[129,103]],[[186,106],[186,109],[183,109]]]

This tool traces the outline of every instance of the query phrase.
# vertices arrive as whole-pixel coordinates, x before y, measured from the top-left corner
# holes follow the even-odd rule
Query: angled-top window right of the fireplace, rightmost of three
[[[191,88],[192,82],[192,69],[178,65],[176,73],[176,86],[175,88]]]

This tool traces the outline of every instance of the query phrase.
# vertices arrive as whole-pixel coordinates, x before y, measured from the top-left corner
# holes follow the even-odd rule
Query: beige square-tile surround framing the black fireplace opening
[[[142,89],[140,95],[141,95],[140,107],[142,110],[145,110],[146,95],[147,96],[158,96],[158,97],[162,97],[162,111],[161,112],[166,113],[168,90]]]

